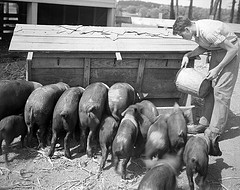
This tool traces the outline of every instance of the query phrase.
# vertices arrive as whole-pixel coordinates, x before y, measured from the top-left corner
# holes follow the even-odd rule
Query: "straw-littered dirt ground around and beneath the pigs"
[[[1,42],[0,42],[1,43]],[[24,79],[24,54],[9,53],[8,44],[0,46],[0,79]],[[197,69],[205,70],[202,63]],[[199,100],[192,104],[199,107]],[[232,97],[226,131],[222,135],[221,157],[210,157],[207,182],[211,190],[240,189],[240,74]],[[101,152],[93,159],[78,153],[78,146],[72,142],[73,159],[63,156],[61,146],[55,151],[52,159],[46,156],[49,147],[44,150],[20,148],[19,138],[12,144],[9,154],[9,165],[0,156],[0,189],[80,189],[80,190],[133,190],[137,189],[146,168],[141,159],[132,159],[127,167],[128,180],[121,180],[111,166],[111,155],[108,157],[104,171],[97,178]],[[188,182],[185,170],[178,176],[178,190],[187,190]]]

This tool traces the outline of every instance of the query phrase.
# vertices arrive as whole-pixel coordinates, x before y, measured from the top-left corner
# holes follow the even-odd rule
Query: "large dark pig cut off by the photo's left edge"
[[[29,95],[42,84],[26,80],[0,81],[0,120],[9,115],[21,114]]]

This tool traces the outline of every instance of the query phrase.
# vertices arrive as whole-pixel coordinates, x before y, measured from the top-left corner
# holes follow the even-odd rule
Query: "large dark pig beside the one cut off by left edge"
[[[30,138],[37,131],[38,148],[46,146],[47,131],[49,130],[55,104],[68,88],[69,85],[63,82],[49,84],[37,88],[28,97],[24,108],[24,119]]]

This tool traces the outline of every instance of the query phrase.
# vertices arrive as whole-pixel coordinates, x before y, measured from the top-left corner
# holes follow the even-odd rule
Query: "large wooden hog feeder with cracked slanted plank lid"
[[[182,97],[174,83],[182,57],[195,47],[164,28],[18,24],[9,50],[28,52],[27,80],[128,82],[157,106],[172,106]]]

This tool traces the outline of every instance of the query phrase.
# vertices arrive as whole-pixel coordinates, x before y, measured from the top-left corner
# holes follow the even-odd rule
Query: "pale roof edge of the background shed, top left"
[[[116,8],[116,0],[11,0],[11,1]]]

